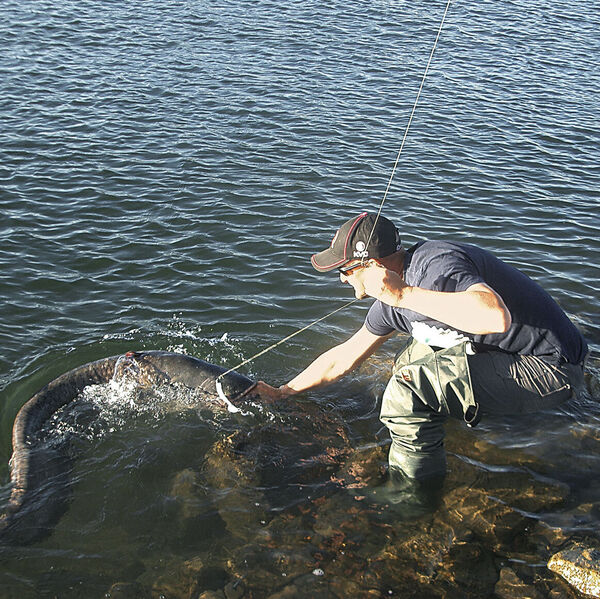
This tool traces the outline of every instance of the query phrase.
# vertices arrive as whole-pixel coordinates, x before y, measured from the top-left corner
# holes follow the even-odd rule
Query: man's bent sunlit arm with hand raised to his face
[[[365,268],[358,276],[363,277],[365,292],[384,304],[418,312],[466,333],[505,333],[511,325],[506,304],[483,283],[466,291],[432,291],[411,287],[400,275],[379,265]]]

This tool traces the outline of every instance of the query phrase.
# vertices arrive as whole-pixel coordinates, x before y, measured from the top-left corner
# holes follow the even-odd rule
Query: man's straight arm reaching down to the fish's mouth
[[[385,337],[373,335],[363,325],[348,341],[321,354],[286,385],[276,388],[259,381],[254,391],[269,399],[283,399],[333,383],[362,364],[392,335],[394,333]]]

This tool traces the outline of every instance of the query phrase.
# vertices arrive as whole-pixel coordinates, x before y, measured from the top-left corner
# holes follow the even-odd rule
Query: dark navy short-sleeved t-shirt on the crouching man
[[[490,252],[466,243],[422,241],[406,252],[404,280],[434,291],[465,291],[485,283],[504,300],[512,317],[506,333],[473,335],[459,331],[478,349],[538,356],[552,364],[577,364],[587,353],[585,339],[559,305],[537,283]],[[451,329],[418,312],[376,301],[365,325],[374,335],[412,333],[413,323]]]

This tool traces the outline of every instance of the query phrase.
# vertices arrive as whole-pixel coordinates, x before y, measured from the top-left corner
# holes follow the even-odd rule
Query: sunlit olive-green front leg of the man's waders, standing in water
[[[443,475],[446,419],[461,418],[470,426],[479,421],[468,343],[434,349],[410,338],[396,355],[380,414],[392,438],[391,468],[399,468],[411,478]]]

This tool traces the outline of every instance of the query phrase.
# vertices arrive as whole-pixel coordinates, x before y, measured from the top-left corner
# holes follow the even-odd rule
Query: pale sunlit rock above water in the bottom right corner
[[[600,597],[600,547],[576,543],[555,553],[548,561],[548,568],[578,591]]]

